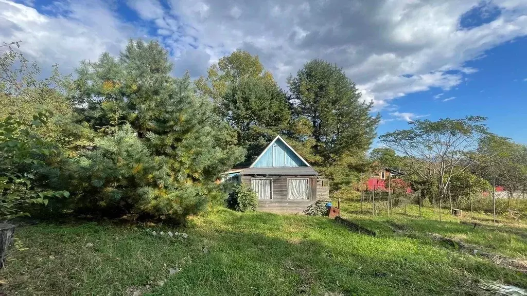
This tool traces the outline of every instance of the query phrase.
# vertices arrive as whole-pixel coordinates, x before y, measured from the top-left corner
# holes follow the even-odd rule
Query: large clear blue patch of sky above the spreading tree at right
[[[428,115],[421,119],[437,120],[483,115],[488,117],[492,132],[527,144],[527,128],[523,125],[523,119],[527,118],[526,48],[527,37],[492,48],[483,57],[467,62],[467,66],[478,71],[451,90],[432,88],[408,94],[394,103],[400,110],[415,114],[413,118]],[[448,98],[452,99],[444,101]],[[406,121],[390,121],[395,117],[390,115],[393,112],[380,113],[389,122],[379,126],[379,134],[407,128]]]

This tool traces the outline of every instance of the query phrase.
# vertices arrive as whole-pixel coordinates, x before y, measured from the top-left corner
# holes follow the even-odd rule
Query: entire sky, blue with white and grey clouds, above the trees
[[[43,72],[71,73],[130,38],[161,42],[175,76],[204,75],[240,48],[285,89],[321,58],[373,100],[378,134],[483,115],[527,144],[525,0],[0,0],[0,42],[21,40]]]

